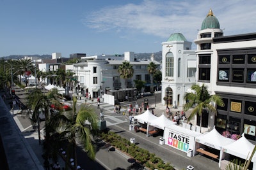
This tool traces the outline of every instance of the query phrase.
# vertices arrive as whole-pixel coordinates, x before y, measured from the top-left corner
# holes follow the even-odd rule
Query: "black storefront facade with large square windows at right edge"
[[[253,43],[255,39],[256,33],[252,33],[214,38],[213,41],[225,46],[225,43],[241,41]],[[222,48],[216,49],[216,52],[218,66],[215,93],[223,99],[223,105],[217,106],[216,129],[220,133],[229,131],[231,134],[244,134],[252,143],[256,143],[256,46]],[[227,90],[220,91],[218,86],[225,86]],[[235,88],[236,91],[230,90]]]

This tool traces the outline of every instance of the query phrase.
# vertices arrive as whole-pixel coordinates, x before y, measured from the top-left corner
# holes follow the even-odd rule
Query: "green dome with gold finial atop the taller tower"
[[[201,30],[204,29],[220,29],[220,23],[218,19],[214,16],[212,9],[209,10],[209,13],[207,14],[201,25]]]

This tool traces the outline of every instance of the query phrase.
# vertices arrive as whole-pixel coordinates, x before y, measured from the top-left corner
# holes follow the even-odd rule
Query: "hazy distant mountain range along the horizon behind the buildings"
[[[150,59],[150,56],[152,55],[152,53],[134,53],[135,55],[135,58],[137,60],[148,60]],[[22,59],[24,58],[25,56],[28,56],[28,57],[39,57],[41,59],[51,59],[52,58],[52,55],[48,55],[48,54],[44,54],[44,55],[38,55],[38,54],[35,54],[35,55],[9,55],[9,56],[6,56],[6,57],[2,57],[2,59],[4,60],[8,60],[8,59]],[[122,55],[124,56],[124,55]],[[154,52],[154,57],[155,57],[155,60],[160,62],[162,60],[162,52]]]

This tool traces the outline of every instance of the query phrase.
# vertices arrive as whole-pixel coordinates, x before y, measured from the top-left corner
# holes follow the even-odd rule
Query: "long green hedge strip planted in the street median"
[[[165,164],[164,161],[161,158],[156,157],[154,153],[150,153],[148,150],[140,148],[115,132],[102,133],[100,136],[104,141],[111,144],[111,146],[115,146],[115,148],[127,153],[140,162],[141,165],[148,167],[148,169],[174,169],[170,163]]]

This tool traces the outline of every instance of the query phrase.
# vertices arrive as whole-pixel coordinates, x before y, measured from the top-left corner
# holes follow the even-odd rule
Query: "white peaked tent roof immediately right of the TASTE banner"
[[[196,142],[202,143],[203,145],[210,146],[215,148],[216,150],[221,150],[222,146],[233,143],[235,140],[230,138],[225,138],[218,131],[216,131],[215,127],[210,132],[205,132],[200,136],[196,136]]]

